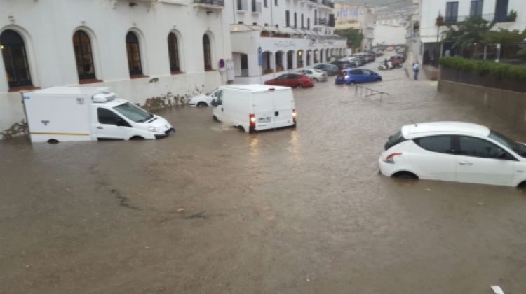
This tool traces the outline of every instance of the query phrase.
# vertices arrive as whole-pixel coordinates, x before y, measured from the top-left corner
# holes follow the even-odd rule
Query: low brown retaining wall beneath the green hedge
[[[438,92],[450,94],[454,99],[484,107],[518,130],[526,132],[526,93],[457,83],[450,80],[438,81]]]

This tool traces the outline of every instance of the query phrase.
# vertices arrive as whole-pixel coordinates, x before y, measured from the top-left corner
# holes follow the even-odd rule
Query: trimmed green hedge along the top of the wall
[[[501,64],[483,60],[466,59],[462,57],[442,57],[440,65],[457,71],[478,73],[480,76],[492,76],[501,80],[526,80],[526,66]]]

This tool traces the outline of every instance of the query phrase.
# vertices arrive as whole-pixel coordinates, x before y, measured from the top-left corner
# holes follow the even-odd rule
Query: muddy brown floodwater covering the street
[[[1,141],[0,293],[525,293],[525,194],[398,181],[377,160],[411,120],[526,134],[382,75],[382,101],[333,78],[295,90],[295,130],[180,107],[159,141]]]

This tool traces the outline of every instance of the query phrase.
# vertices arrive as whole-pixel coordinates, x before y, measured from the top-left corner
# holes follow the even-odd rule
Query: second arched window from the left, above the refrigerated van
[[[79,74],[79,80],[95,78],[91,42],[86,32],[76,31],[73,35],[73,48],[75,50],[76,72]]]

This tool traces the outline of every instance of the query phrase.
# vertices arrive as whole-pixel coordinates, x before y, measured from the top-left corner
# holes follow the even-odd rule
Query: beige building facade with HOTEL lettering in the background
[[[362,50],[370,50],[375,40],[376,16],[370,8],[336,3],[336,29],[359,29],[363,34]]]

